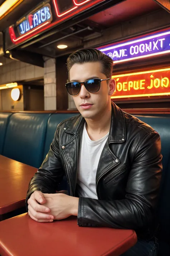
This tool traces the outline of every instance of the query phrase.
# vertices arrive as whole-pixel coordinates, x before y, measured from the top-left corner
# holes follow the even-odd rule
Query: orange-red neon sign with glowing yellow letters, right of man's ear
[[[112,99],[170,95],[170,68],[112,76]]]

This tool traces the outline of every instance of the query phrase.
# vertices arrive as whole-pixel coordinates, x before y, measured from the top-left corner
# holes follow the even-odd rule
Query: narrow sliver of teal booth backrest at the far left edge
[[[6,129],[12,113],[0,113],[0,154],[3,152]]]

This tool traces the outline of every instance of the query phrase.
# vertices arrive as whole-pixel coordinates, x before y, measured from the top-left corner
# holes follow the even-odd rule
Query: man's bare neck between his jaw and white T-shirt
[[[110,130],[110,122],[112,118],[111,102],[99,116],[93,119],[86,118],[86,130],[91,140],[99,140],[103,138]]]

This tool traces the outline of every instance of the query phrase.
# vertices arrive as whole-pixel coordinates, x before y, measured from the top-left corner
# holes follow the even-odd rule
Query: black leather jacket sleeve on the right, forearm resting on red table
[[[151,224],[161,179],[161,142],[155,131],[136,145],[122,200],[79,198],[79,226],[142,229]]]

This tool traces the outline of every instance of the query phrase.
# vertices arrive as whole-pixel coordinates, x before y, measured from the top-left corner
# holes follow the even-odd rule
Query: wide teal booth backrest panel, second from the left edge
[[[39,168],[50,114],[14,113],[6,131],[3,155]]]

